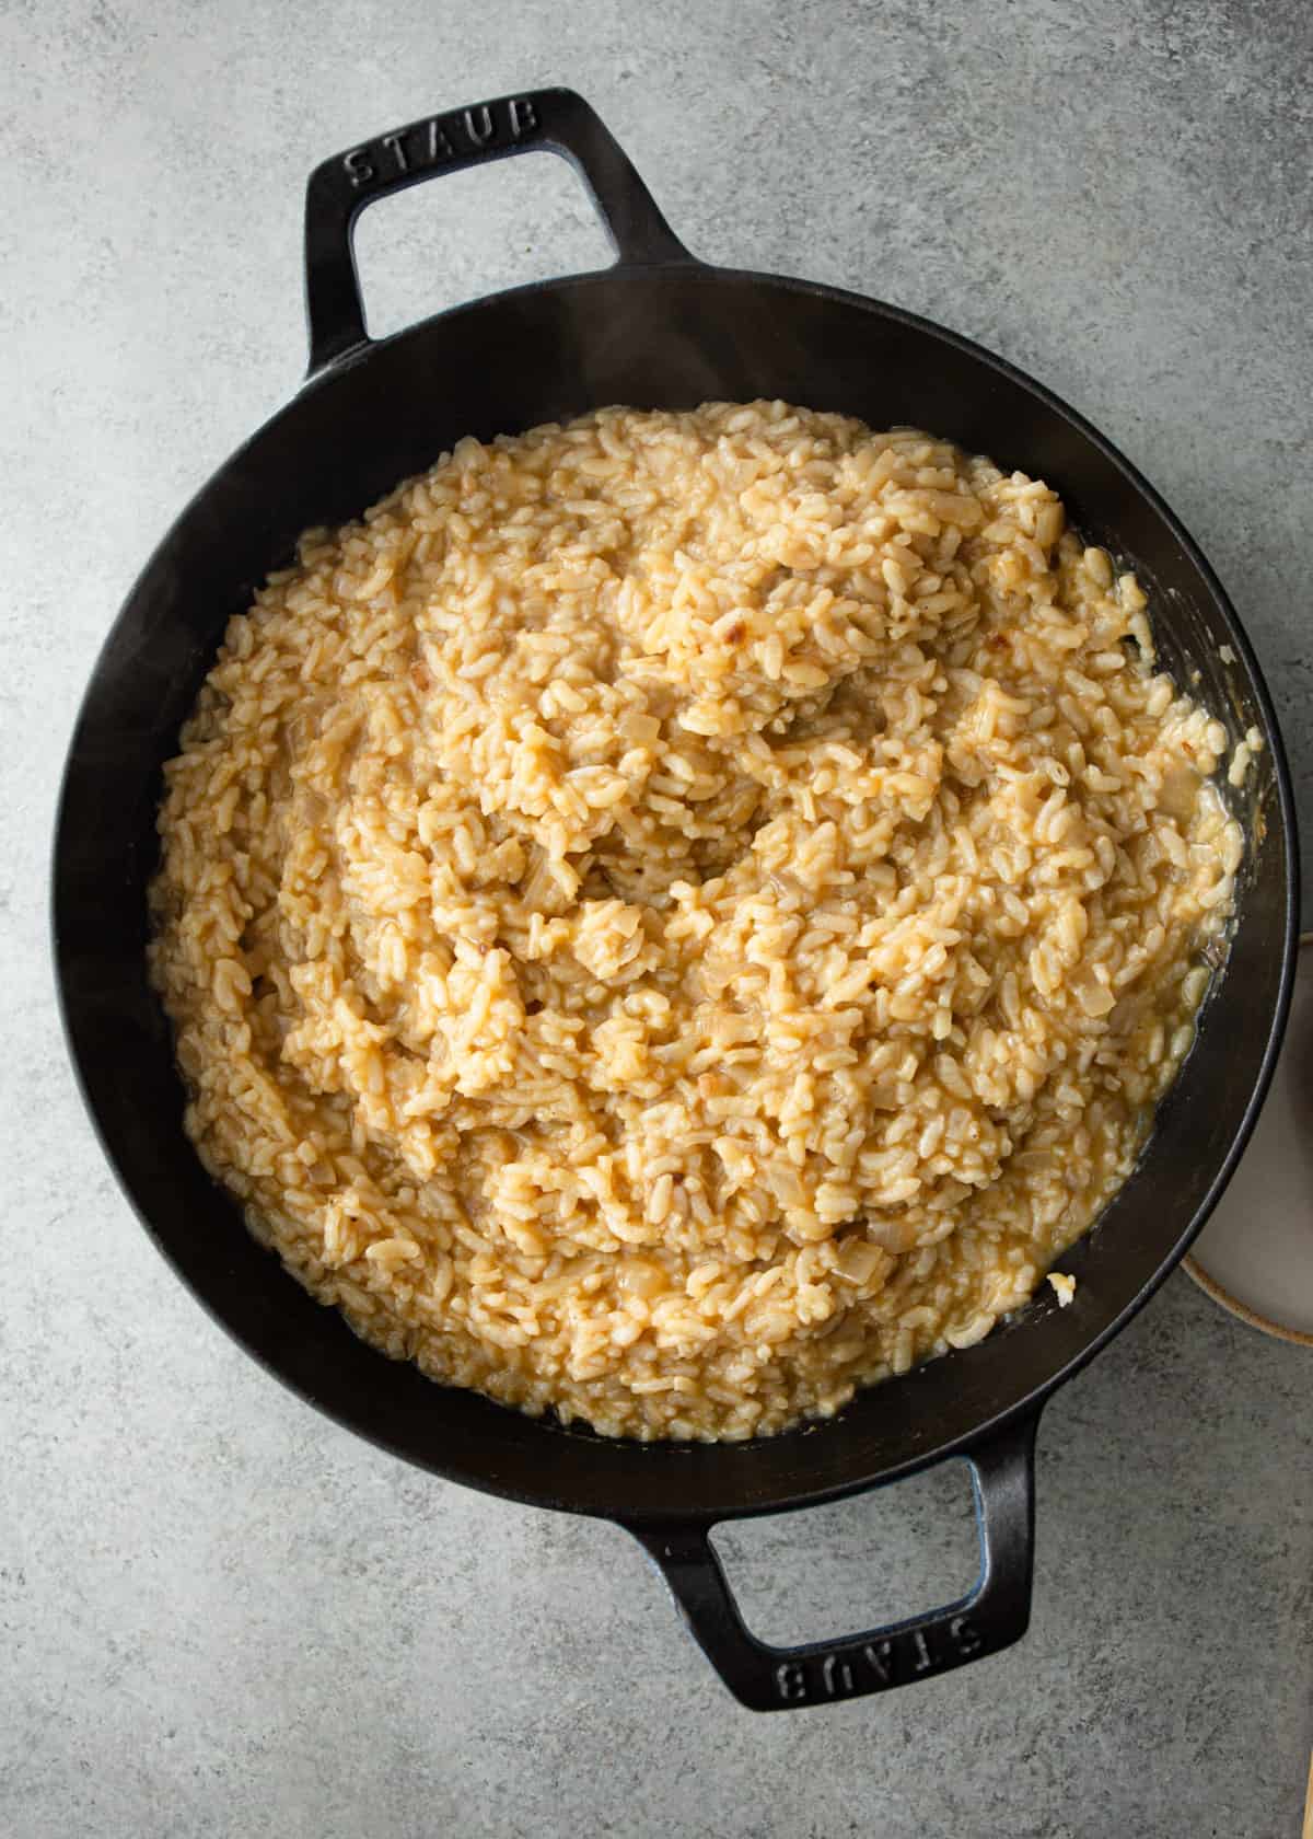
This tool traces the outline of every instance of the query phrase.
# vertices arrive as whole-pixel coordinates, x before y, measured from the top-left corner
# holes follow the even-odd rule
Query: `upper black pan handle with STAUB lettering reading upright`
[[[565,154],[625,263],[691,261],[601,118],[574,90],[526,90],[425,116],[324,160],[305,188],[309,375],[368,344],[351,234],[366,204],[533,149]]]

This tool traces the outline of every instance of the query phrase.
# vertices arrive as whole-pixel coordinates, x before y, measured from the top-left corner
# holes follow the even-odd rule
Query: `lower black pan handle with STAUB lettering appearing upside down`
[[[910,1686],[1021,1640],[1030,1622],[1039,1412],[967,1449],[980,1532],[976,1587],[947,1609],[846,1640],[771,1648],[748,1633],[710,1526],[629,1526],[656,1559],[680,1615],[736,1699],[756,1712],[796,1710]]]

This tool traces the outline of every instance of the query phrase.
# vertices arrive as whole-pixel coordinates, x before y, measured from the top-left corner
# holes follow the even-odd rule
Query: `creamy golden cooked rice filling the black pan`
[[[1129,1173],[1241,861],[1225,747],[1135,577],[945,441],[465,440],[303,537],[182,730],[188,1131],[436,1379],[638,1438],[826,1416]]]

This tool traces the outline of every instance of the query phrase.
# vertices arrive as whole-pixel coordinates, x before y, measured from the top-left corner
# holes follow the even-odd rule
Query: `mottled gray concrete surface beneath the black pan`
[[[708,257],[945,320],[1054,384],[1230,585],[1309,802],[1300,0],[0,6],[0,1832],[1293,1833],[1313,1738],[1309,1357],[1182,1276],[1041,1433],[1030,1639],[761,1719],[603,1525],[425,1479],[208,1324],[79,1109],[44,938],[96,647],[294,388],[325,153],[566,81]],[[375,326],[587,265],[524,160],[370,213]],[[778,1637],[969,1571],[938,1475],[726,1539]]]

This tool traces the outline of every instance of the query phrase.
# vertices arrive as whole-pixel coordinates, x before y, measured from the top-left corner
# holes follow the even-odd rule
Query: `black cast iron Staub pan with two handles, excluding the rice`
[[[579,169],[618,265],[371,342],[351,257],[360,208],[528,149],[561,153]],[[53,866],[59,986],[83,1092],[125,1194],[217,1320],[338,1423],[449,1480],[627,1526],[745,1705],[875,1692],[1008,1646],[1030,1613],[1041,1407],[1147,1300],[1203,1225],[1249,1137],[1285,1019],[1291,789],[1227,596],[1125,460],[1011,366],[855,294],[695,261],[568,90],[434,116],[325,160],[307,193],[305,285],[309,381],[215,473],[147,563],[96,666],[66,767]],[[914,423],[1046,478],[1090,541],[1133,559],[1179,680],[1234,739],[1256,725],[1265,747],[1234,794],[1250,848],[1227,969],[1138,1170],[1063,1260],[1078,1278],[1072,1308],[1032,1304],[980,1346],[875,1387],[829,1423],[739,1445],[640,1445],[530,1420],[382,1359],[248,1238],[182,1133],[169,1032],[145,984],[153,820],[160,765],[224,622],[291,557],[305,526],[359,513],[462,434],[487,440],[603,403],[691,408],[761,395],[844,410],[877,428]],[[833,1501],[951,1455],[967,1458],[976,1490],[982,1571],[969,1596],[804,1648],[769,1648],[748,1633],[708,1543],[717,1521]]]

